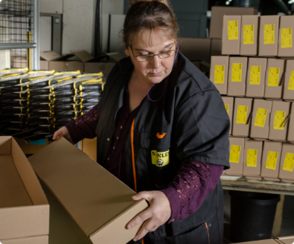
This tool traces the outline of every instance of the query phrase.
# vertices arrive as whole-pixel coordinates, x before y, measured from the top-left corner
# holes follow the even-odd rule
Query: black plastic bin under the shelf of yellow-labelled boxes
[[[231,241],[270,239],[279,195],[230,191]]]

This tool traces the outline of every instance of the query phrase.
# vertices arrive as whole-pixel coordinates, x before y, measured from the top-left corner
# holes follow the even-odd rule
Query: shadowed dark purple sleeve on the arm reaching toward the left
[[[78,119],[72,120],[65,127],[69,130],[69,135],[74,143],[83,140],[84,138],[93,139],[96,137],[96,127],[99,120],[98,105],[92,110],[78,116]]]

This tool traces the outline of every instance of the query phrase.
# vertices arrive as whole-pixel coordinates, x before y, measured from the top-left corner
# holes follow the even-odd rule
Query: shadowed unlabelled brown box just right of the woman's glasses
[[[211,40],[207,38],[182,38],[180,52],[190,61],[210,63]]]

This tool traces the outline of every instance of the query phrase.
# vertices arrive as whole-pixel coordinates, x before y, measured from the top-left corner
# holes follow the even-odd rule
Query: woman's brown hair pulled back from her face
[[[132,0],[130,5],[122,30],[126,48],[132,46],[132,41],[135,38],[141,37],[143,30],[150,30],[150,46],[153,30],[159,30],[169,39],[177,39],[179,26],[167,0]]]

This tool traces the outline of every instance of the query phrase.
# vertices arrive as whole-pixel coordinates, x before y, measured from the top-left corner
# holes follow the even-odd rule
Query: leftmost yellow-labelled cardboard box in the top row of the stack
[[[221,54],[239,55],[241,38],[241,15],[223,17],[223,44]]]

